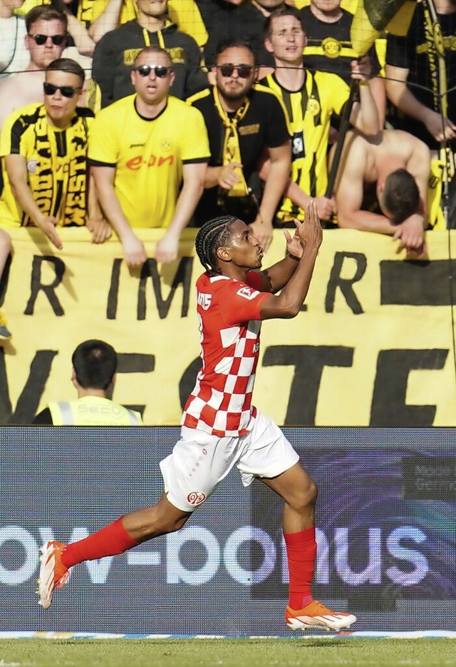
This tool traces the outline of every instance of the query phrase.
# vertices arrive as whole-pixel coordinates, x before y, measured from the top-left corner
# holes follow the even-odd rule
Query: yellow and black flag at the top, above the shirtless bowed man
[[[405,36],[415,6],[416,0],[358,0],[350,29],[353,50],[359,56],[366,55],[384,30]]]

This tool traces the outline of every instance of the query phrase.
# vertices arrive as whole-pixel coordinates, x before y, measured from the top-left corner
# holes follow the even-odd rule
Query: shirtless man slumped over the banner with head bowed
[[[336,183],[339,227],[389,234],[400,239],[401,248],[420,253],[429,173],[429,148],[408,132],[348,133]],[[369,190],[377,196],[380,213],[363,208]]]

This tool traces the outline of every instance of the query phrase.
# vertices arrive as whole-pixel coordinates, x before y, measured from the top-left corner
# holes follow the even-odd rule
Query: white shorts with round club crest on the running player
[[[160,462],[160,469],[170,503],[193,511],[234,466],[248,487],[254,477],[276,477],[298,461],[298,454],[277,424],[257,412],[252,431],[242,437],[219,438],[182,427],[180,441]]]

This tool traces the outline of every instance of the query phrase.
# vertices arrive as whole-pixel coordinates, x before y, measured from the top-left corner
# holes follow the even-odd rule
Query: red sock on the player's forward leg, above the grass
[[[316,561],[315,526],[299,533],[284,533],[290,574],[289,606],[303,609],[314,598],[311,583]]]

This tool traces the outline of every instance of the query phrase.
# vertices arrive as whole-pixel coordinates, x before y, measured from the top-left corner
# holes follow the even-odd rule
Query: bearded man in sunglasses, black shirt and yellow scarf
[[[215,86],[187,100],[204,116],[211,149],[195,223],[234,215],[249,223],[267,250],[276,206],[289,178],[291,129],[286,111],[275,93],[255,83],[257,67],[247,42],[220,44],[212,72]],[[271,170],[258,205],[249,183],[264,153]]]

